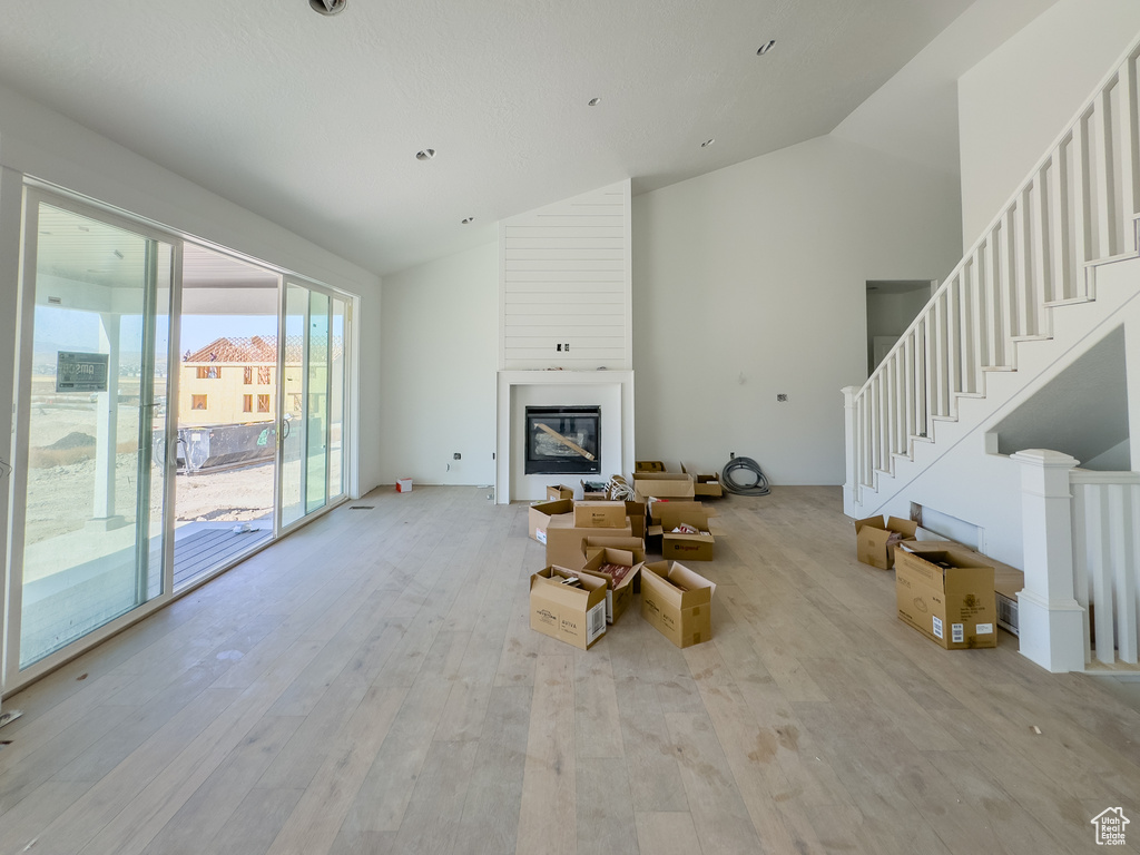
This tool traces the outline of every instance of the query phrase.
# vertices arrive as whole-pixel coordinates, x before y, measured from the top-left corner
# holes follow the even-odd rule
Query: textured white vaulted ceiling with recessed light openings
[[[826,133],[970,2],[5,2],[0,82],[386,274]]]

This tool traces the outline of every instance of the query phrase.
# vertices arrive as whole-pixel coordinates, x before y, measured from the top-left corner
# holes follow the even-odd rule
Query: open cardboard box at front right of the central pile
[[[712,592],[716,585],[684,564],[658,561],[644,564],[642,617],[678,648],[712,637]]]

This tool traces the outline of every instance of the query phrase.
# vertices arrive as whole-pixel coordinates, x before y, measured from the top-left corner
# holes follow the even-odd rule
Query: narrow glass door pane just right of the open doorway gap
[[[306,389],[309,372],[306,350],[309,327],[309,292],[292,283],[285,286],[282,347],[280,516],[282,526],[306,514],[308,449]]]

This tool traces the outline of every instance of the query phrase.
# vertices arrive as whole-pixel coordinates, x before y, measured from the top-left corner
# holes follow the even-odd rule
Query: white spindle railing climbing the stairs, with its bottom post
[[[862,388],[846,398],[847,497],[934,441],[1051,310],[1096,298],[1096,266],[1134,258],[1140,213],[1140,39],[1081,107]]]

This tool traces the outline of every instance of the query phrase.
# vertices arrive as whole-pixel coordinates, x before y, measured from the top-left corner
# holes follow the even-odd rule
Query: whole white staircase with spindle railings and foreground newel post
[[[986,502],[1001,518],[986,524],[1016,537],[1012,549],[1023,561],[991,554],[1025,569],[1019,602],[1031,626],[1021,651],[1052,670],[1081,670],[1093,658],[1137,662],[1140,483],[1132,473],[1115,473],[1132,492],[1101,515],[1099,488],[1080,471],[1070,484],[1077,461],[1041,450],[985,455],[996,448],[983,448],[984,426],[1123,318],[1140,324],[1140,272],[1133,272],[1140,261],[1112,275],[1104,270],[1140,258],[1138,57],[1140,39],[868,382],[844,390],[844,510],[850,516],[885,510],[905,515],[903,506],[931,478],[952,480],[963,461],[986,458],[982,465],[994,474],[979,490],[1000,494]],[[1099,299],[1098,270],[1105,284]],[[1021,519],[1010,524],[1018,504]],[[994,513],[997,505],[1009,512]],[[1109,508],[1107,499],[1104,505]],[[1100,557],[1109,554],[1112,561]],[[1094,600],[1092,626],[1088,605]],[[1090,630],[1100,642],[1096,653]]]

